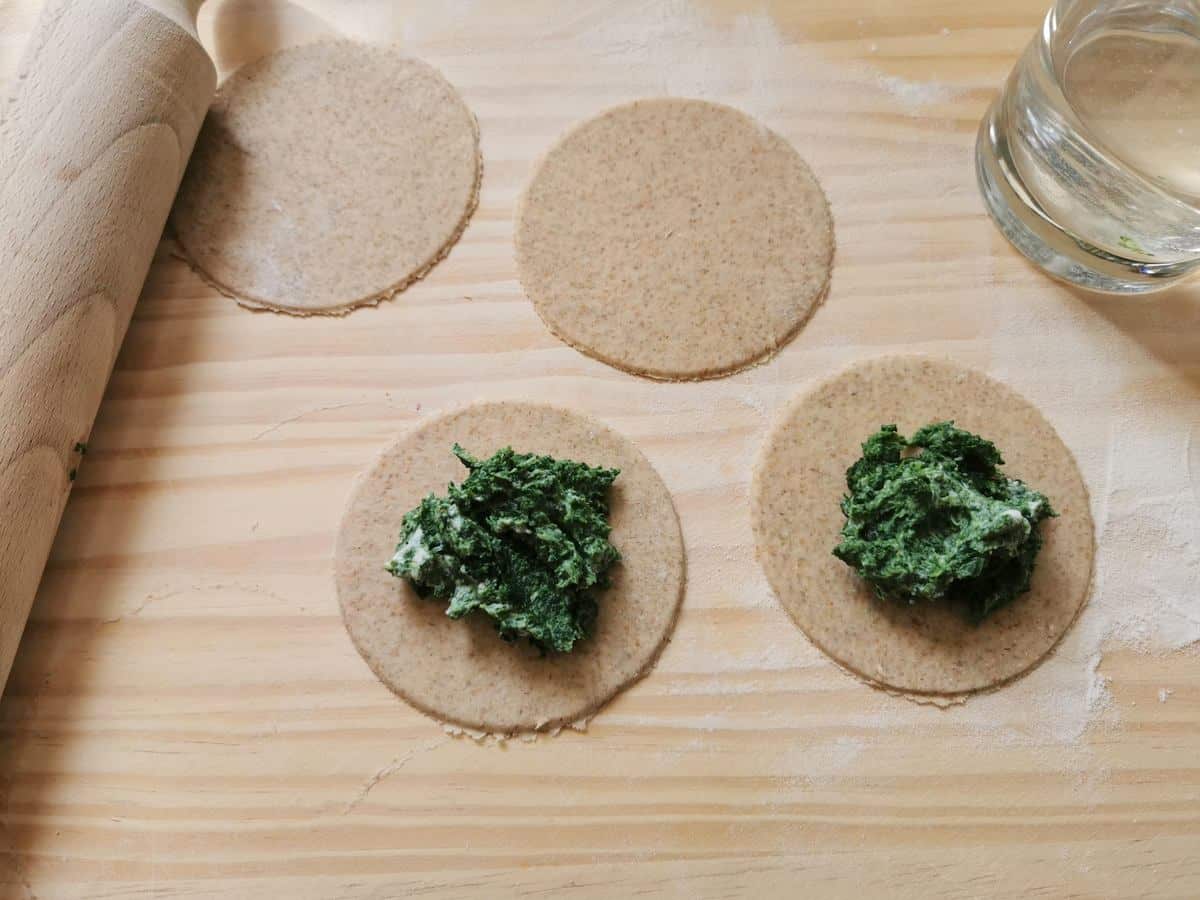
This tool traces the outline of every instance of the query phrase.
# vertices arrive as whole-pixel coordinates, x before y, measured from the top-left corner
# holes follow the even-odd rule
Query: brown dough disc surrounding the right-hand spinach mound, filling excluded
[[[878,601],[832,553],[845,521],[846,469],[862,443],[881,425],[911,436],[946,419],[995,442],[1003,470],[1045,493],[1060,514],[1042,523],[1031,590],[979,625],[941,605]],[[751,505],[760,562],[796,624],[856,674],[907,694],[965,694],[1022,674],[1087,599],[1092,515],[1070,451],[1028,401],[948,360],[884,356],[805,391],[767,439]]]

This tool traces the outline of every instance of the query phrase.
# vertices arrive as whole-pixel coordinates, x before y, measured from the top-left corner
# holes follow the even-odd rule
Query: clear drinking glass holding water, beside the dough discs
[[[1200,269],[1200,0],[1057,0],[976,168],[1001,230],[1064,281],[1140,294]]]

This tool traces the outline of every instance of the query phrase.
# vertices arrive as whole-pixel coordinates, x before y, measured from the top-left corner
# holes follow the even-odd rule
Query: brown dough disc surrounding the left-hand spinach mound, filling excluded
[[[404,512],[462,481],[456,440],[476,456],[511,445],[620,469],[610,521],[622,562],[595,631],[571,653],[505,643],[482,616],[450,619],[444,602],[384,571]],[[584,719],[650,670],[674,626],[684,550],[666,485],[629,440],[558,407],[491,402],[424,422],[384,450],[354,487],[335,572],[346,628],[384,684],[442,721],[511,734]]]

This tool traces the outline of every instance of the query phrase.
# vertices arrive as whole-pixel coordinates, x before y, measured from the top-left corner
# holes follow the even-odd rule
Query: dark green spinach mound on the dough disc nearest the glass
[[[912,440],[884,425],[846,472],[846,524],[833,553],[902,604],[949,600],[976,622],[1030,589],[1038,523],[1057,515],[998,470],[996,445],[954,422]]]

